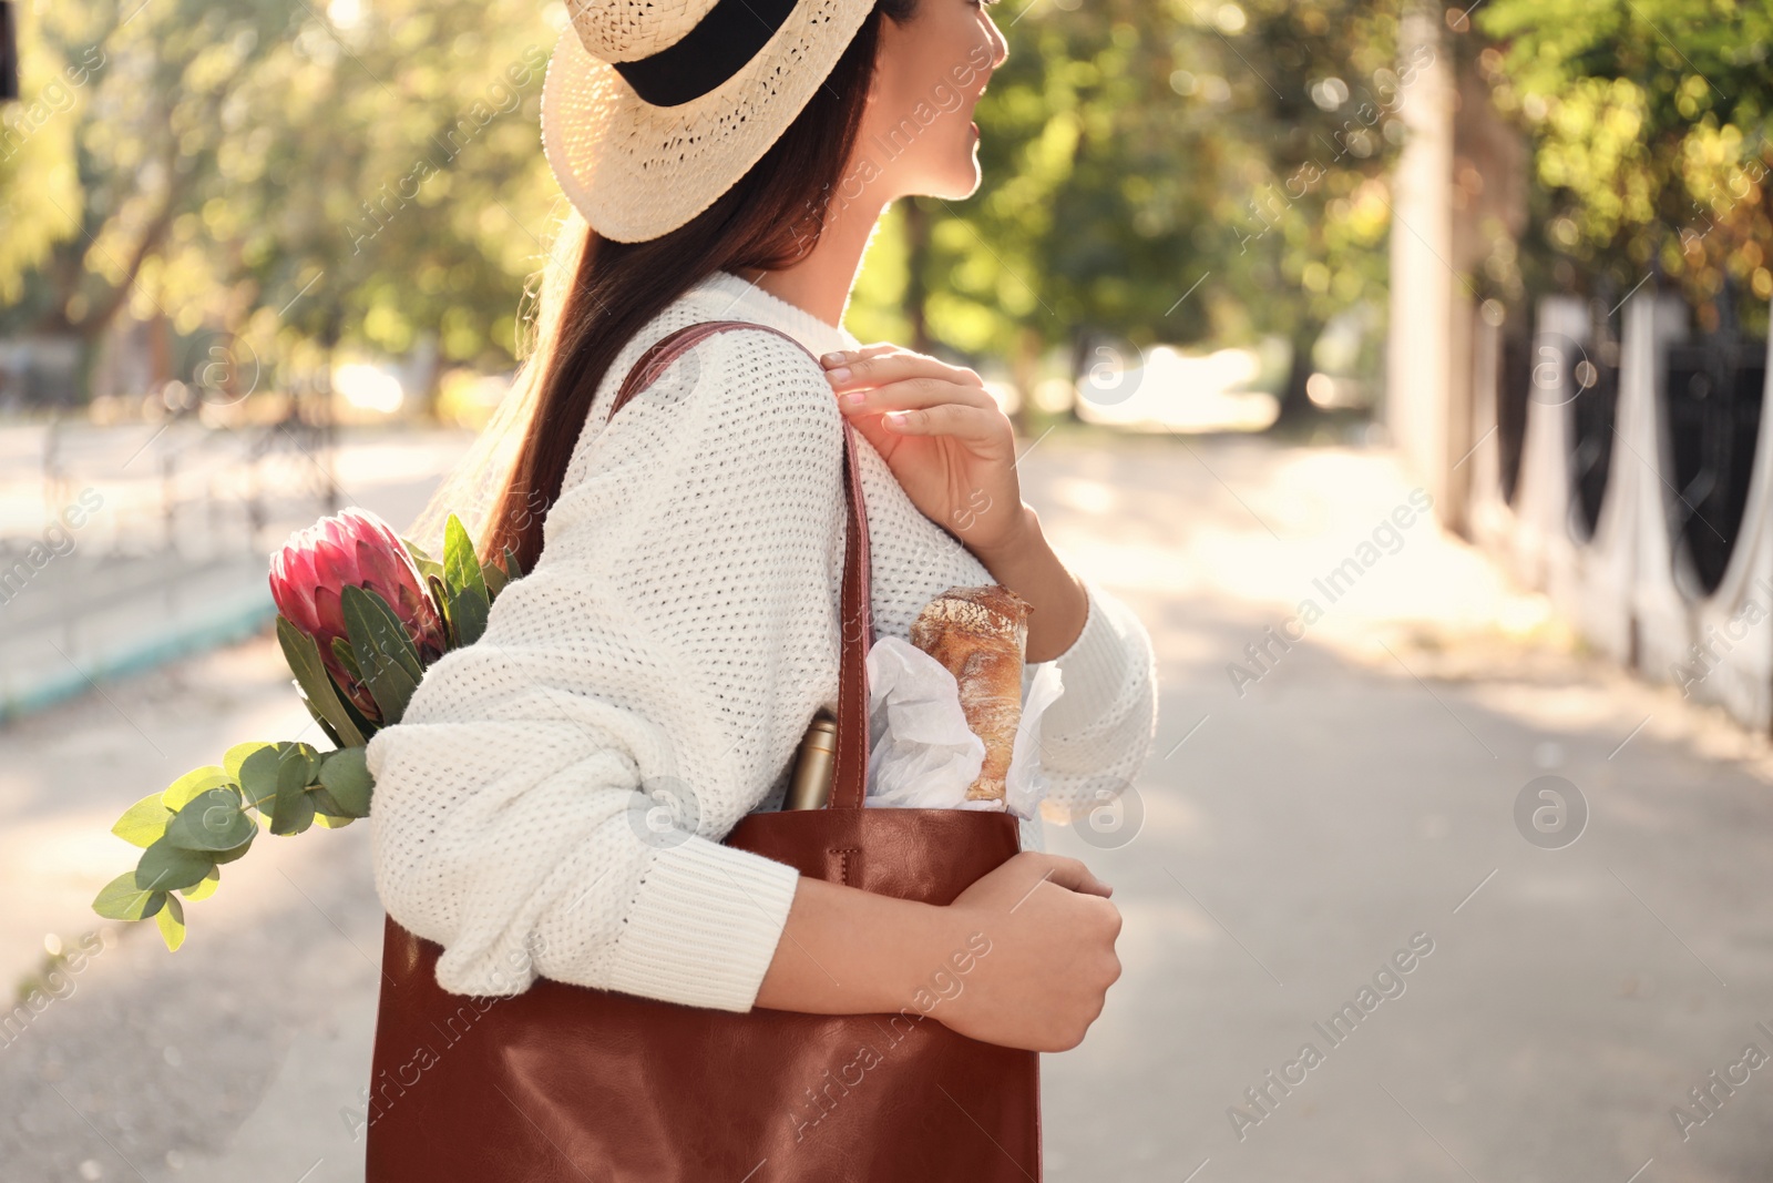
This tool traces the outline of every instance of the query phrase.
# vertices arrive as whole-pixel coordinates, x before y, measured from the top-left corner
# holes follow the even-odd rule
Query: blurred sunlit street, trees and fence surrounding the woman
[[[1050,827],[1128,974],[1046,1178],[1769,1178],[1773,11],[989,12],[984,184],[886,211],[847,328],[988,380],[1158,647],[1145,775]],[[0,1178],[362,1179],[367,827],[177,952],[90,901],[307,722],[269,552],[404,527],[505,396],[566,7],[0,14]]]

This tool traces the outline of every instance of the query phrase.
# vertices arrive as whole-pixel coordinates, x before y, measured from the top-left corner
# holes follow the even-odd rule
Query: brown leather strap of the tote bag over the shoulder
[[[734,328],[759,328],[793,341],[807,351],[807,356],[817,362],[812,349],[807,349],[793,335],[771,325],[759,325],[755,321],[702,321],[667,333],[640,355],[640,360],[628,371],[628,378],[615,392],[605,422],[615,419],[615,411],[628,406],[629,399],[651,387],[684,349],[715,333]],[[869,514],[862,497],[862,474],[855,459],[855,435],[856,429],[846,419],[844,507],[847,529],[844,532],[844,594],[839,621],[842,647],[837,665],[837,752],[833,754],[837,768],[832,779],[830,809],[862,809],[862,798],[867,791],[871,748],[867,656],[869,647],[874,644],[874,610],[871,603]]]

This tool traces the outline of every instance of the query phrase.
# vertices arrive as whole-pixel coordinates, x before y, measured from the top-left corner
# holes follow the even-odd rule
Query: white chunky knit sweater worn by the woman
[[[807,722],[837,704],[842,427],[814,358],[741,330],[605,426],[640,353],[706,319],[814,355],[858,346],[727,271],[672,303],[605,376],[535,569],[369,745],[376,885],[443,945],[445,990],[539,974],[745,1011],[769,967],[800,876],[720,839],[780,807]],[[856,452],[876,631],[906,637],[933,596],[991,576],[860,435]],[[1131,780],[1156,724],[1145,630],[1083,582],[1089,621],[1041,724],[1060,803]]]

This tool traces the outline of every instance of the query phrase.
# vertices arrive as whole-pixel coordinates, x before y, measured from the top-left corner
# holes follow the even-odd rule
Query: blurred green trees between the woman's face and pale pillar
[[[1106,0],[1000,21],[988,176],[933,208],[931,332],[1027,355],[1099,335],[1293,342],[1289,420],[1326,321],[1383,307],[1385,172],[1410,64],[1395,0]],[[910,287],[910,286],[908,286]],[[1128,364],[1136,364],[1129,358]]]

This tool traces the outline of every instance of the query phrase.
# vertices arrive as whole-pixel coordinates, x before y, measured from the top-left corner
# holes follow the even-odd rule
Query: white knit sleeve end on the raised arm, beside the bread
[[[1138,777],[1158,727],[1158,667],[1151,635],[1089,576],[1083,631],[1060,653],[1064,692],[1041,717],[1046,800],[1062,814],[1101,805]]]

